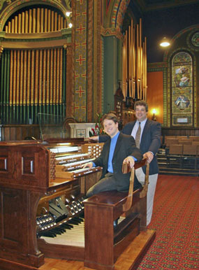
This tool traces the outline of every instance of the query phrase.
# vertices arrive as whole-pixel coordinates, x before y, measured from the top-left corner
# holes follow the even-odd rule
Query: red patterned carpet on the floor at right
[[[142,269],[199,269],[199,178],[159,175]]]

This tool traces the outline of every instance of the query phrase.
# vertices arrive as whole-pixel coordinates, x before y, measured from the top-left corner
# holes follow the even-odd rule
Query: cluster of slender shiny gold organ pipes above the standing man
[[[147,99],[147,39],[142,43],[142,20],[125,32],[123,44],[123,94]]]

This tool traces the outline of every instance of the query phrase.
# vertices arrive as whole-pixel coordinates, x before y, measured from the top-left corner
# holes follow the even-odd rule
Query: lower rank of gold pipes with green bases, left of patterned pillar
[[[66,50],[7,50],[1,57],[2,120],[36,123],[37,113],[63,115],[66,104]],[[1,74],[2,74],[1,73]]]

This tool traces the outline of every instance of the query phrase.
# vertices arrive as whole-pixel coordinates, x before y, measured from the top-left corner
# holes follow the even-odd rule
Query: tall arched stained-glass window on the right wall
[[[172,57],[172,126],[193,126],[193,60],[188,52]]]

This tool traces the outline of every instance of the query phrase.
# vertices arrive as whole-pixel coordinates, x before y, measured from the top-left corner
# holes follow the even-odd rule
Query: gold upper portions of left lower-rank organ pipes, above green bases
[[[9,66],[9,103],[61,103],[63,50],[8,50],[10,56],[6,66]]]

